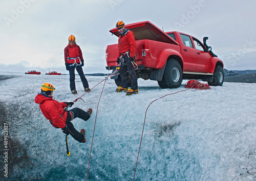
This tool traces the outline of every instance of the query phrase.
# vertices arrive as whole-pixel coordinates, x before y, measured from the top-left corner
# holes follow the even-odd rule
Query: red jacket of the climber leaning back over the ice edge
[[[58,102],[52,97],[37,94],[35,103],[39,104],[42,114],[50,121],[53,127],[63,128],[66,126],[68,112],[63,109],[67,106],[66,102]]]

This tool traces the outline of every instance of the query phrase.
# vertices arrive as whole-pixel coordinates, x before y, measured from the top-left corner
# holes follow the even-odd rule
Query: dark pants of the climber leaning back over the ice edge
[[[72,113],[72,116],[70,114],[70,112]],[[84,121],[87,121],[90,118],[90,115],[88,114],[88,112],[79,109],[79,108],[73,108],[71,110],[68,111],[68,115],[67,115],[67,121],[66,124],[68,125],[70,131],[73,134],[70,134],[76,141],[82,143],[84,136],[82,133],[78,132],[75,128],[74,125],[71,123],[71,121],[75,118],[80,118]]]

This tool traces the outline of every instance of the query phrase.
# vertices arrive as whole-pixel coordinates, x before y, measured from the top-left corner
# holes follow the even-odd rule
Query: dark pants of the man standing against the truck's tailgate
[[[122,62],[122,59],[124,62]],[[121,61],[121,66],[120,66],[120,76],[121,76],[121,87],[123,88],[128,88],[128,81],[127,81],[127,71],[132,79],[131,83],[131,88],[133,90],[138,89],[138,82],[137,82],[137,75],[135,72],[135,68],[132,64],[132,62],[129,61],[129,57],[127,54],[122,58]]]

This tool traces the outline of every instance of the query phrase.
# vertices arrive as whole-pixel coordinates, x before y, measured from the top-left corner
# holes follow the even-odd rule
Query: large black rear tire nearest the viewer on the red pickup
[[[163,79],[157,81],[161,88],[178,88],[182,82],[182,70],[180,63],[172,58],[167,61]]]

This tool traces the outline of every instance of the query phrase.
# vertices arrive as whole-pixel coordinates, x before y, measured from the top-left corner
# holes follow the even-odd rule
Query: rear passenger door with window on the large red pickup
[[[195,71],[197,65],[197,51],[188,35],[180,34],[183,43],[181,45],[182,57],[184,60],[183,71]]]

